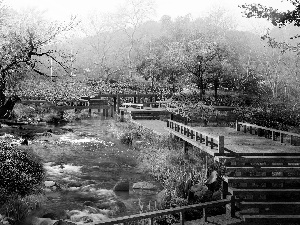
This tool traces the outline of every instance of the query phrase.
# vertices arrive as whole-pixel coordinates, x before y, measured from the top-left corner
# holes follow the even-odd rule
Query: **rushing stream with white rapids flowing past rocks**
[[[113,124],[114,120],[82,120],[62,127],[68,131],[60,135],[49,127],[54,134],[30,143],[47,171],[44,213],[63,215],[67,210],[74,222],[95,222],[139,213],[139,200],[154,204],[159,190],[132,189],[134,182],[153,180],[139,171],[136,150],[116,138]],[[129,192],[112,191],[120,179],[129,179]]]

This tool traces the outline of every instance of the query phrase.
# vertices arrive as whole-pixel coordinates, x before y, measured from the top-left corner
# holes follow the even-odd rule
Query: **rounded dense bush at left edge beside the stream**
[[[29,150],[0,142],[0,204],[35,192],[45,177],[41,159]]]

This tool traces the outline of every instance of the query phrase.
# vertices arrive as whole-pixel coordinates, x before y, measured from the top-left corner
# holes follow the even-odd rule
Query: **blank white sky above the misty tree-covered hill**
[[[114,12],[127,0],[5,0],[5,4],[16,10],[37,8],[45,11],[45,15],[55,20],[68,20],[71,15],[84,17],[91,12]],[[212,9],[220,7],[228,10],[238,23],[240,30],[265,28],[266,21],[249,20],[242,17],[238,5],[244,3],[260,3],[279,10],[292,9],[286,0],[155,0],[155,20],[163,15],[172,18],[191,14],[193,18],[206,15]]]

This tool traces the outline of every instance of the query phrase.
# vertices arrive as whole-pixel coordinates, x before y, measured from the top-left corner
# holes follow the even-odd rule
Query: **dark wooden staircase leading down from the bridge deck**
[[[220,159],[225,160],[228,192],[246,222],[300,224],[300,154]]]

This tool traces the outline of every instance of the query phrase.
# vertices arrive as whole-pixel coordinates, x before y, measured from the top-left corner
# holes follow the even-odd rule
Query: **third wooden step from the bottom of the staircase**
[[[228,192],[236,196],[238,201],[265,202],[297,202],[300,201],[300,189],[241,189],[228,188]]]

